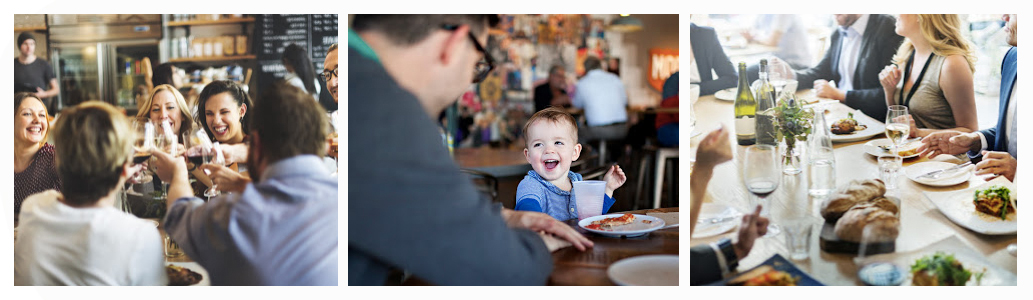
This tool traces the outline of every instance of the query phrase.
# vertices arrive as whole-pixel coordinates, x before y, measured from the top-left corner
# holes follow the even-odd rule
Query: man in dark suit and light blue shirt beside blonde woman
[[[836,14],[840,28],[831,36],[832,47],[818,65],[796,71],[797,88],[814,88],[819,97],[840,100],[881,120],[886,114],[886,100],[879,71],[891,63],[904,40],[894,32],[895,22],[886,14]],[[829,85],[829,81],[839,87]]]

